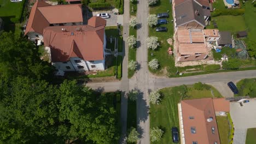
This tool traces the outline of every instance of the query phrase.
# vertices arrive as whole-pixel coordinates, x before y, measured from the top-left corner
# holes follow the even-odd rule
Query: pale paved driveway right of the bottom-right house
[[[244,144],[248,128],[256,128],[256,99],[240,106],[239,103],[230,103],[230,114],[235,127],[234,144]]]

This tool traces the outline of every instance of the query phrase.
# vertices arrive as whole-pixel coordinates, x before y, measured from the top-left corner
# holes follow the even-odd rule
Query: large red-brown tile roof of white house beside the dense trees
[[[46,27],[43,32],[44,46],[51,48],[51,61],[66,62],[71,57],[80,57],[86,61],[103,60],[104,27]],[[65,31],[62,31],[62,28],[65,28]],[[77,31],[76,28],[81,30]]]

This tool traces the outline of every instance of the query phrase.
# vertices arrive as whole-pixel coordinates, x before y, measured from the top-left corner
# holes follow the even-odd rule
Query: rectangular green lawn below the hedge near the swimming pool
[[[245,31],[247,28],[245,17],[243,17],[242,15],[217,16],[217,17],[212,17],[212,21],[216,21],[219,31],[230,31],[232,33],[236,33],[238,31]],[[212,21],[211,21],[211,25],[207,26],[207,29],[214,28]]]

